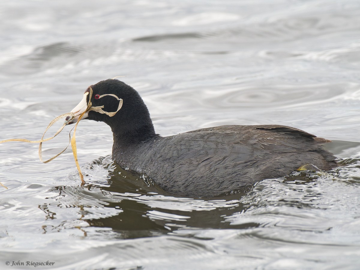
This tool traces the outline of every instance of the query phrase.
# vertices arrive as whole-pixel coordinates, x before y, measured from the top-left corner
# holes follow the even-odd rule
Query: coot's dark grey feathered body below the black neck
[[[330,170],[336,162],[322,149],[325,142],[285,126],[218,126],[127,147],[115,137],[113,158],[170,193],[213,197],[285,176],[308,163]]]

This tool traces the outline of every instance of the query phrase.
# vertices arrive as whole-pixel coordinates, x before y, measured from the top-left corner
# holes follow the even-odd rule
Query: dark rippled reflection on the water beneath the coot
[[[234,211],[245,211],[240,202],[244,194],[214,199],[174,197],[144,181],[141,175],[114,168],[110,157],[94,161],[88,169],[91,173],[102,166],[110,171],[106,182],[91,181],[86,186],[57,186],[52,189],[56,195],[50,199],[55,199],[56,203],[39,206],[46,213],[46,219],[55,219],[59,208],[75,207],[81,213],[79,220],[88,222],[90,226],[111,228],[119,233],[119,238],[139,238],[167,234],[179,228],[230,228],[225,217]],[[62,226],[51,229],[47,226],[46,231],[60,230]],[[257,224],[231,228],[249,226]]]

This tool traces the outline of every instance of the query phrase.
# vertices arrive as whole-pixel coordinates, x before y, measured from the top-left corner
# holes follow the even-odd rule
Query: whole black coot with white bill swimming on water
[[[302,165],[313,164],[321,170],[337,166],[332,153],[321,145],[329,140],[288,126],[227,125],[162,137],[155,133],[138,92],[114,79],[89,86],[72,111],[76,117],[67,119],[67,124],[86,111],[90,87],[92,107],[104,107],[86,112],[83,118],[111,127],[114,160],[123,168],[146,174],[172,194],[215,197],[285,176]],[[123,100],[120,110],[116,96]],[[113,116],[103,113],[117,110]]]

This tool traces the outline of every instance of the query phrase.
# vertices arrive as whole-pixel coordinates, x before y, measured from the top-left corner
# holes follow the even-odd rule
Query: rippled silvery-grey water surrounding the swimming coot
[[[159,134],[289,125],[344,166],[192,199],[114,164],[103,123],[78,126],[85,186],[71,150],[42,164],[36,144],[1,144],[1,269],[358,269],[359,25],[356,0],[2,1],[0,139],[39,139],[87,86],[126,76]]]

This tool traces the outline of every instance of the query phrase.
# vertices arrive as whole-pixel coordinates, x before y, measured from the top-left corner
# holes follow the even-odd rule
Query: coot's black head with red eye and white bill
[[[113,94],[122,99],[122,106],[114,116],[97,111],[89,111],[84,114],[84,119],[107,123],[112,129],[114,137],[118,136],[126,141],[146,140],[155,135],[150,114],[143,99],[131,86],[119,80],[109,79],[89,86],[84,93],[83,100],[72,111],[77,118],[84,112],[84,109],[80,108],[84,108],[89,102],[90,87],[93,90],[91,108],[104,106],[102,108],[103,111],[116,112],[120,101],[116,97],[107,94]],[[69,121],[68,124],[76,122],[77,118]]]

